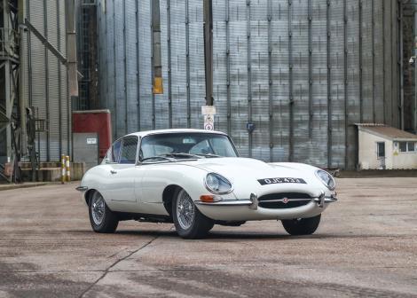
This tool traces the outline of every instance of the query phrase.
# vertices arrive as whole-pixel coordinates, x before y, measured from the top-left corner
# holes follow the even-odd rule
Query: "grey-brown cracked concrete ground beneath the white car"
[[[179,239],[90,230],[76,184],[0,192],[0,296],[417,297],[417,178],[339,179],[316,234],[276,221]]]

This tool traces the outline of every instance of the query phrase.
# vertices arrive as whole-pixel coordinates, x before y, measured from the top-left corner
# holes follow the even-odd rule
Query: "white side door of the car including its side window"
[[[118,144],[114,145],[116,154]],[[114,162],[108,163],[108,173],[106,176],[105,196],[113,201],[135,202],[135,180],[136,176],[136,156],[138,150],[138,137],[123,137],[120,145],[120,153],[114,156]]]

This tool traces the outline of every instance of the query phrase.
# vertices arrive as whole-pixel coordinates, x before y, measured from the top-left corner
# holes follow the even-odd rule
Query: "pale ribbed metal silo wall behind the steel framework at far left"
[[[27,7],[28,20],[66,56],[65,0],[30,0]],[[59,161],[60,154],[71,153],[67,67],[35,35],[28,33],[24,39],[25,97],[46,124],[46,131],[36,134],[36,152],[41,161]]]

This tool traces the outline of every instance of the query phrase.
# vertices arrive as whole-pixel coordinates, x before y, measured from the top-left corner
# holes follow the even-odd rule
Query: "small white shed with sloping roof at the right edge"
[[[384,124],[356,125],[359,169],[417,169],[417,135]]]

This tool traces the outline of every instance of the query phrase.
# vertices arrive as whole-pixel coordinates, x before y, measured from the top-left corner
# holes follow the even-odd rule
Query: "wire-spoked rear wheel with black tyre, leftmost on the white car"
[[[119,224],[119,219],[107,207],[106,201],[99,192],[90,195],[89,216],[91,228],[96,232],[113,233]]]

